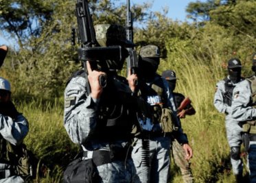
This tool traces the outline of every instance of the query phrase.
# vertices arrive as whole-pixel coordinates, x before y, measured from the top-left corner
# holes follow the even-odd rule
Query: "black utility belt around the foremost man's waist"
[[[82,158],[93,159],[96,166],[107,164],[115,160],[124,161],[131,158],[132,148],[130,147],[116,147],[110,145],[110,150],[97,149],[95,151],[83,151]]]

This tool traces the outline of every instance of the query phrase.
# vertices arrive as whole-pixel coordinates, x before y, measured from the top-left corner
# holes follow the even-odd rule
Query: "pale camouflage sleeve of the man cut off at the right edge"
[[[233,90],[232,117],[237,121],[256,119],[256,109],[251,107],[251,86],[247,80],[240,82]]]

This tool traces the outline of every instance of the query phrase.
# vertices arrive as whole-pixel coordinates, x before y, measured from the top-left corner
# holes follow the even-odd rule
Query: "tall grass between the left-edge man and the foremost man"
[[[43,171],[33,182],[62,182],[63,170],[78,152],[63,125],[63,99],[21,101],[14,96],[14,102],[30,124],[24,143],[40,161],[38,172]]]

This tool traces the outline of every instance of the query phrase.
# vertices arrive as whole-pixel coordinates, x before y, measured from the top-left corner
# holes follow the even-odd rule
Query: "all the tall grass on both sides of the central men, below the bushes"
[[[194,61],[194,62],[193,62]],[[176,92],[188,96],[196,114],[182,120],[183,130],[194,149],[191,169],[195,182],[234,182],[226,141],[224,114],[213,106],[216,82],[224,77],[221,62],[184,57],[178,66],[161,64],[159,73],[173,69],[179,78]],[[15,91],[15,86],[14,86]],[[47,167],[44,176],[33,182],[62,182],[62,171],[75,156],[78,146],[71,143],[63,125],[63,98],[38,99],[15,95],[14,103],[30,122],[25,144],[40,164]],[[244,172],[245,173],[245,172]],[[172,163],[172,182],[182,182],[178,167]]]

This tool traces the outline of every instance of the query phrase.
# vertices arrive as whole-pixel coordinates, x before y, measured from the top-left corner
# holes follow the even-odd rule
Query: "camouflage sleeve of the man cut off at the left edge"
[[[19,114],[16,119],[0,114],[0,133],[6,141],[19,145],[28,131],[27,119],[22,114]]]

